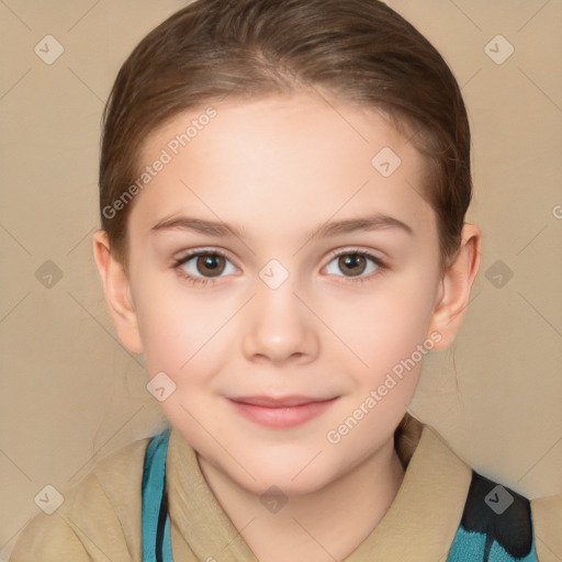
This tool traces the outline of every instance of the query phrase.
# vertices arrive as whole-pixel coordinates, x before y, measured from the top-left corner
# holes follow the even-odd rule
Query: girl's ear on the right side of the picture
[[[441,335],[441,340],[434,349],[446,349],[453,342],[467,313],[470,290],[479,271],[482,246],[479,227],[464,224],[461,240],[457,256],[442,274],[431,316],[428,334],[437,331]]]

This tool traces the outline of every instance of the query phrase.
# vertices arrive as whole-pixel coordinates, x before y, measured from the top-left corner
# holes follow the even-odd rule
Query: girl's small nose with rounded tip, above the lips
[[[291,278],[277,289],[258,280],[244,325],[243,352],[249,361],[304,364],[316,358],[318,321],[303,301]]]

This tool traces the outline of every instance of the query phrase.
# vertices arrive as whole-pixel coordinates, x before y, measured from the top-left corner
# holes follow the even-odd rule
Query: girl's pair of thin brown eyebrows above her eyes
[[[321,224],[308,233],[308,237],[328,237],[349,234],[356,231],[382,231],[387,228],[398,228],[411,236],[414,235],[414,231],[406,223],[389,215],[375,214]],[[206,221],[190,216],[165,218],[153,226],[150,231],[154,233],[160,231],[191,231],[216,237],[236,236],[245,240],[249,238],[248,232],[244,226],[228,225],[223,222]]]

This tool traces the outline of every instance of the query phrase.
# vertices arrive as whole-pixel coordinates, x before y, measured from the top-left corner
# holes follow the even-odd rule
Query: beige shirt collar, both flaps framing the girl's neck
[[[409,414],[395,432],[395,447],[406,469],[398,493],[376,528],[345,562],[435,562],[445,559],[454,539],[471,468],[431,426]],[[196,452],[175,427],[166,477],[175,558],[258,562],[209,487]]]

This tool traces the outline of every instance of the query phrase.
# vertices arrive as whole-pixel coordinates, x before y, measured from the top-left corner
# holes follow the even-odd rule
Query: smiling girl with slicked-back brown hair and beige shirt
[[[411,24],[375,0],[198,0],[104,117],[94,257],[170,426],[11,560],[554,560],[559,498],[406,412],[481,247],[462,97]]]

